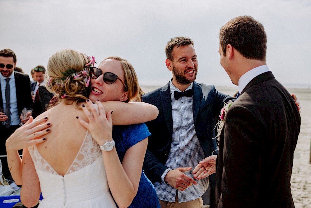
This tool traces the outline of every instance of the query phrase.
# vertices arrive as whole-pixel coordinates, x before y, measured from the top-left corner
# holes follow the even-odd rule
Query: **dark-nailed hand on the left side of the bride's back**
[[[48,117],[33,121],[32,116],[30,116],[29,120],[20,128],[16,129],[6,140],[5,145],[7,151],[24,149],[46,141],[44,135],[50,132],[49,127],[51,126],[47,120]]]

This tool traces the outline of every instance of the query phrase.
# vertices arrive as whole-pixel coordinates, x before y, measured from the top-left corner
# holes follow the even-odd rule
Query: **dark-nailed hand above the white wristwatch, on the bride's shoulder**
[[[98,110],[91,100],[87,99],[86,104],[89,106],[91,112],[84,104],[82,105],[82,110],[89,122],[87,123],[77,116],[76,118],[79,123],[89,130],[99,145],[104,144],[106,141],[112,141],[112,110],[106,114],[103,104],[98,100],[96,100]]]

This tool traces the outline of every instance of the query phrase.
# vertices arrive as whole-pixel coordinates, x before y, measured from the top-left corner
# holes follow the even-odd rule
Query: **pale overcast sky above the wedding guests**
[[[12,49],[26,74],[72,48],[99,64],[120,56],[141,85],[165,85],[165,44],[174,36],[194,41],[197,82],[234,86],[219,64],[219,29],[250,15],[267,33],[267,65],[285,86],[311,86],[310,0],[1,0],[0,50]]]

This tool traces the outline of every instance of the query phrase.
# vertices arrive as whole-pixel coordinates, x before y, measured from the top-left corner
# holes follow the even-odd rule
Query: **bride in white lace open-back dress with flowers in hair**
[[[123,196],[115,197],[127,200],[131,182],[115,148],[102,151],[104,147],[99,145],[112,140],[112,123],[143,123],[155,119],[158,109],[145,103],[97,101],[99,113],[93,115],[103,125],[101,131],[96,131],[100,136],[95,141],[79,123],[81,119],[88,121],[81,106],[85,107],[87,99],[86,72],[93,64],[94,60],[78,51],[67,49],[53,54],[47,65],[48,86],[60,94],[60,103],[34,121],[30,119],[7,139],[8,164],[16,184],[22,184],[21,201],[27,207],[38,203],[40,192],[44,197],[40,208],[116,207],[109,193],[108,171],[118,179],[113,185],[124,190]],[[96,111],[94,105],[91,109]],[[105,109],[109,110],[107,115]],[[17,152],[21,148],[25,148],[23,160]],[[126,207],[127,203],[118,206]]]

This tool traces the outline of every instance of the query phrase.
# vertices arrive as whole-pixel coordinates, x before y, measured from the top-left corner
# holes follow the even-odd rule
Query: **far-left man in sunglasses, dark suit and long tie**
[[[0,115],[0,155],[6,155],[5,141],[20,127],[19,123],[26,123],[31,115],[32,99],[29,76],[14,71],[16,66],[16,55],[10,49],[0,51],[0,107],[7,109],[6,115]],[[23,108],[28,108],[27,118],[21,120],[20,114]],[[3,122],[6,121],[7,124]],[[5,178],[11,174],[7,166],[7,158],[0,157],[2,162],[2,173]]]

